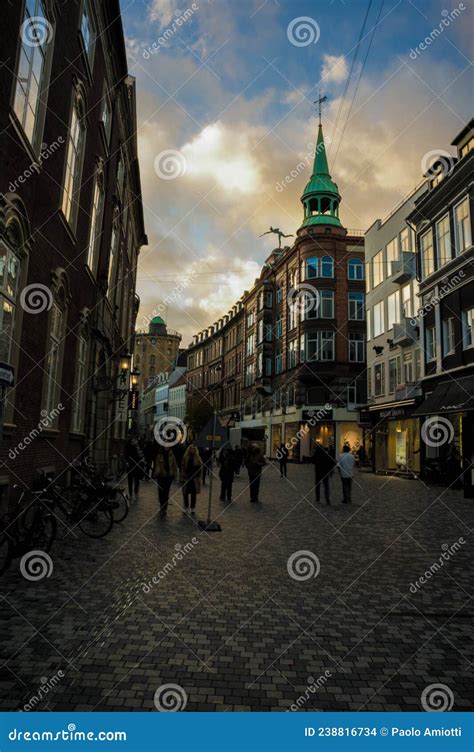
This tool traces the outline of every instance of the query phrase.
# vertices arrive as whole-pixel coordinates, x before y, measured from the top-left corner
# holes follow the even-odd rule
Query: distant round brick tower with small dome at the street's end
[[[155,316],[148,332],[135,333],[133,364],[140,371],[141,383],[146,387],[153,378],[173,368],[179,354],[181,334],[166,327],[161,316]]]

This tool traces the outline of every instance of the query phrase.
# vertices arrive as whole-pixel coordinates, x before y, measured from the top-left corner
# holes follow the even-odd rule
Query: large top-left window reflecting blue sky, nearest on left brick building
[[[39,151],[53,46],[52,26],[41,0],[25,4],[20,39],[13,109],[33,149]]]

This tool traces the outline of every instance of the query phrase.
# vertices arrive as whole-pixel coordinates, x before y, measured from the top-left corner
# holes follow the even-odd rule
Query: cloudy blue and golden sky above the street
[[[121,3],[149,239],[138,324],[174,298],[166,318],[184,344],[251,287],[275,245],[258,236],[301,224],[319,88],[350,228],[385,216],[419,182],[424,154],[453,152],[472,113],[468,0]]]

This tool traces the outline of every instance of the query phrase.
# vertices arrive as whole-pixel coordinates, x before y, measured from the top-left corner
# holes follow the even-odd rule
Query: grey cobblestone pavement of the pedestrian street
[[[186,710],[408,711],[438,683],[472,707],[473,502],[359,473],[353,504],[334,478],[328,507],[312,486],[311,467],[281,480],[269,464],[262,503],[243,478],[230,505],[215,488],[223,530],[202,533],[178,486],[161,519],[144,483],[104,540],[58,540],[50,577],[29,582],[15,560],[0,580],[2,708],[155,710],[176,684]]]

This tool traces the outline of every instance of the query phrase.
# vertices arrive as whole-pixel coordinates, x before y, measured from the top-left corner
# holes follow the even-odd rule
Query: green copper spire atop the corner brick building
[[[313,172],[301,196],[304,207],[302,227],[312,225],[335,225],[342,227],[339,220],[341,196],[336,183],[329,174],[323,126],[319,123]]]

